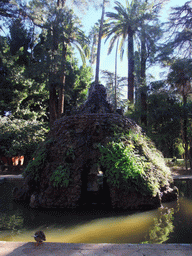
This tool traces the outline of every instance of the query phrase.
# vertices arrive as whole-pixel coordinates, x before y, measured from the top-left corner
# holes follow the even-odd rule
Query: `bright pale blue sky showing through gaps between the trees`
[[[70,0],[68,0],[70,1]],[[121,3],[125,2],[125,0],[119,0]],[[110,0],[110,6],[106,7],[106,11],[113,11],[113,7],[115,6],[114,4],[115,1]],[[168,20],[169,13],[170,13],[170,8],[171,7],[176,7],[176,6],[182,6],[187,0],[170,0],[165,6],[163,7],[161,11],[161,21],[165,22]],[[78,15],[81,17],[82,24],[84,26],[84,29],[86,33],[90,31],[90,29],[94,26],[94,24],[98,21],[98,19],[101,18],[101,8],[96,11],[94,8],[90,8],[86,14],[81,14],[78,12]],[[100,70],[108,70],[110,72],[114,72],[115,69],[115,47],[110,55],[107,54],[107,49],[108,49],[108,41],[104,43],[105,39],[102,42],[101,46],[101,61],[100,61]],[[127,76],[128,73],[128,61],[126,54],[124,54],[123,61],[118,58],[118,75],[119,76]],[[95,71],[95,66],[93,66],[93,71]],[[158,80],[162,76],[162,72],[165,70],[160,68],[159,66],[154,66],[148,70],[148,76],[152,74],[155,77],[155,80]],[[100,80],[101,75],[100,75]]]

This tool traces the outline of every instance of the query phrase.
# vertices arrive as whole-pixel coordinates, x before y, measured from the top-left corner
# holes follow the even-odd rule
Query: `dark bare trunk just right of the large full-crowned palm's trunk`
[[[146,55],[145,31],[143,31],[141,35],[141,124],[145,126],[147,126]]]

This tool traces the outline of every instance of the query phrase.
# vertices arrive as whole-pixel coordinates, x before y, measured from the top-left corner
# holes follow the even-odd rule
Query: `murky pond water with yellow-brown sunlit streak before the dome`
[[[14,202],[13,187],[0,185],[0,241],[34,241],[34,232],[43,230],[47,242],[192,243],[192,200],[185,192],[178,202],[145,212],[37,210]]]

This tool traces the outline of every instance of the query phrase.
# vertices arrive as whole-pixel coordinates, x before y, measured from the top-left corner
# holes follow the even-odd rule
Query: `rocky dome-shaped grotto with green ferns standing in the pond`
[[[78,112],[54,123],[14,189],[16,200],[33,208],[143,209],[177,199],[162,154],[106,98],[104,86],[93,84]]]

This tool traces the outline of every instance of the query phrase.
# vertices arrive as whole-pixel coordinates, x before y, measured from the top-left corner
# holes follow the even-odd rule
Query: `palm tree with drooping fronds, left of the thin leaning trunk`
[[[61,51],[61,67],[60,67],[60,87],[57,118],[60,118],[64,112],[64,90],[65,90],[65,64],[67,49],[69,46],[75,47],[85,63],[85,55],[88,55],[88,38],[80,28],[79,20],[74,16],[71,10],[57,10],[57,16],[50,24],[53,37],[53,55],[57,55]]]

